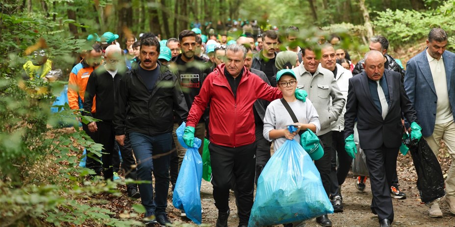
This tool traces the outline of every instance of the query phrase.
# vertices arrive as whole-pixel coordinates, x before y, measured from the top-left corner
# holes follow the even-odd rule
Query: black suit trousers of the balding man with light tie
[[[373,200],[371,209],[378,213],[379,220],[393,221],[393,204],[390,197],[388,179],[393,179],[397,170],[398,148],[364,149],[368,172],[370,174],[371,193]]]

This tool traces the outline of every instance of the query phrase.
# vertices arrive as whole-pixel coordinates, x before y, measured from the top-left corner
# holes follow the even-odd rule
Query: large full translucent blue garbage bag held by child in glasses
[[[321,176],[308,153],[287,140],[257,180],[249,227],[301,222],[333,213]]]

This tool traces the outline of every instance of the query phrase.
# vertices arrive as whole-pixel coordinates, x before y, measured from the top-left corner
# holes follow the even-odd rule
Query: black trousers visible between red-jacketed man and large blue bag
[[[270,159],[270,144],[269,141],[264,138],[264,134],[262,134],[263,130],[263,124],[256,125],[256,178],[254,181],[256,184],[262,169],[264,169],[265,164],[267,164]]]

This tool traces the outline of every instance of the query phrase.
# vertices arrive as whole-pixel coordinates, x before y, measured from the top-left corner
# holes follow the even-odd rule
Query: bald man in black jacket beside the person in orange
[[[99,67],[90,75],[87,87],[84,94],[84,115],[94,117],[101,120],[100,122],[91,122],[87,125],[90,132],[93,132],[96,143],[103,145],[102,150],[102,169],[105,179],[112,179],[112,155],[118,152],[114,149],[115,130],[114,124],[114,103],[116,98],[116,90],[122,77],[125,75],[126,68],[120,67],[122,60],[122,50],[116,45],[110,45],[106,48],[105,65]],[[95,97],[96,112],[91,113],[90,110],[94,104]],[[96,133],[95,133],[96,132]],[[131,144],[126,139],[122,146],[119,146],[120,153],[123,159],[123,169],[126,172],[126,178],[136,180],[136,161],[131,152]],[[98,163],[101,166],[101,163]],[[100,168],[95,168],[97,175],[101,175]],[[137,184],[128,184],[127,193],[129,197],[139,199],[140,195],[137,191]]]

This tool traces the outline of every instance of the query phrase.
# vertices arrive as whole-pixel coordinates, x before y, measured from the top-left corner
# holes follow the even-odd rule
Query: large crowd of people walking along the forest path
[[[394,220],[392,198],[405,198],[396,170],[404,129],[413,140],[425,139],[435,154],[444,140],[453,162],[440,201],[455,214],[455,55],[445,50],[443,29],[431,29],[428,47],[407,62],[405,71],[387,54],[383,36],[371,39],[370,51],[354,67],[345,59],[347,51],[336,46],[337,36],[332,44],[301,48],[291,42],[281,51],[278,33],[267,30],[257,51],[255,37],[230,45],[214,40],[210,46],[197,32],[183,30],[161,41],[151,33],[140,41],[130,36],[126,50],[131,51],[116,45],[118,35],[106,32],[92,40],[92,50],[70,74],[70,107],[101,120],[82,124],[103,145],[102,164],[88,152],[87,167],[112,179],[118,146],[125,177],[149,182],[127,186],[128,196],[141,198],[148,225],[171,223],[167,196],[185,154],[175,133],[182,122],[187,146],[193,147],[195,137],[210,140],[217,227],[228,226],[231,189],[238,226],[248,225],[254,183],[270,158],[270,142],[278,150],[286,140],[300,141],[299,131],[305,130],[316,133],[324,147],[314,164],[335,212],[343,212],[341,185],[357,152],[354,127],[366,155],[371,211],[380,227]],[[281,37],[292,41],[296,36],[298,28],[292,26]],[[291,124],[298,131],[289,132]],[[358,178],[357,188],[364,183]],[[430,217],[442,216],[439,200],[427,205]],[[332,225],[327,214],[316,222]]]

